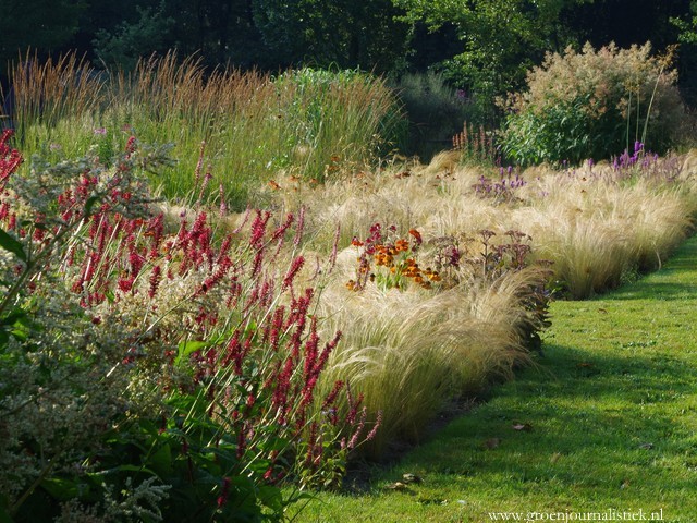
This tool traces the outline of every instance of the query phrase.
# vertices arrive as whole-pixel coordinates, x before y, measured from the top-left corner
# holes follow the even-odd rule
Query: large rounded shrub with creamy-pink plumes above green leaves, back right
[[[687,120],[669,65],[648,44],[548,54],[530,71],[527,90],[509,96],[504,153],[530,165],[610,158],[635,141],[664,151]]]

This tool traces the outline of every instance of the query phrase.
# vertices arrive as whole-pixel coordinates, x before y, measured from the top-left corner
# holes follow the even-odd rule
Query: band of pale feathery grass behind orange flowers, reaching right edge
[[[571,295],[587,297],[660,266],[697,216],[689,156],[638,158],[627,168],[518,172],[460,166],[456,153],[441,154],[429,166],[329,183],[313,195],[310,216],[345,224],[346,243],[351,231],[375,221],[417,227],[425,236],[453,238],[462,246],[473,245],[484,229],[499,236],[518,230],[531,236],[536,258],[552,262]]]

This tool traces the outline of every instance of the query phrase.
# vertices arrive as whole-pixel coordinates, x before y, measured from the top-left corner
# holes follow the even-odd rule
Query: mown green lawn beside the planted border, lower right
[[[537,368],[376,473],[369,494],[322,495],[296,521],[697,523],[697,238],[552,315]],[[388,488],[404,473],[423,483]]]

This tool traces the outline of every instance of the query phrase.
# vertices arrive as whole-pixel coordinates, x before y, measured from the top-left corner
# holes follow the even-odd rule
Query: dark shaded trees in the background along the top
[[[437,70],[485,100],[568,45],[697,41],[694,0],[0,0],[0,72],[28,48],[126,69],[176,49],[209,66]]]

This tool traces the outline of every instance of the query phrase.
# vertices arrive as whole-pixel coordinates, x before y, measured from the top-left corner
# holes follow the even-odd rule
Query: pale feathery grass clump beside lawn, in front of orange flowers
[[[509,275],[442,292],[325,290],[327,328],[343,326],[327,384],[345,376],[370,412],[382,412],[381,429],[366,447],[371,455],[384,455],[391,443],[418,441],[448,400],[477,394],[529,362],[518,331],[521,296],[539,276]]]

